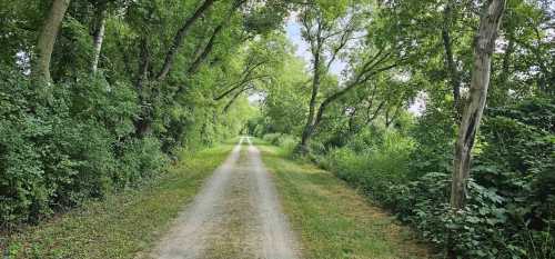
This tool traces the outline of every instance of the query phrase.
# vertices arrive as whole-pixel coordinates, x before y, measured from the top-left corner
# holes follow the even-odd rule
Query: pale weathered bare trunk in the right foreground
[[[504,8],[505,0],[490,0],[487,2],[474,42],[471,89],[455,146],[453,181],[451,187],[451,206],[454,209],[461,209],[465,203],[466,182],[470,177],[471,151],[486,103],[492,53],[495,49],[495,39],[497,38],[497,30]]]

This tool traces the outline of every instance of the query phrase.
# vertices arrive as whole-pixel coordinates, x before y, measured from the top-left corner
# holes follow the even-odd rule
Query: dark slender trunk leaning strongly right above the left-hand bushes
[[[183,26],[178,30],[178,33],[173,38],[173,42],[165,54],[164,63],[162,64],[162,69],[157,76],[157,80],[163,80],[171,68],[173,67],[173,61],[175,60],[175,56],[178,54],[179,49],[183,44],[183,40],[185,39],[189,29],[191,29],[192,24],[214,3],[215,0],[204,0],[201,7],[196,9],[192,17],[188,18]]]

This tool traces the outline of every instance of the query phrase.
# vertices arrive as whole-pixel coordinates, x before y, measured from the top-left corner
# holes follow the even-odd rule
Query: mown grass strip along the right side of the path
[[[428,258],[425,245],[332,173],[260,143],[305,259]]]

